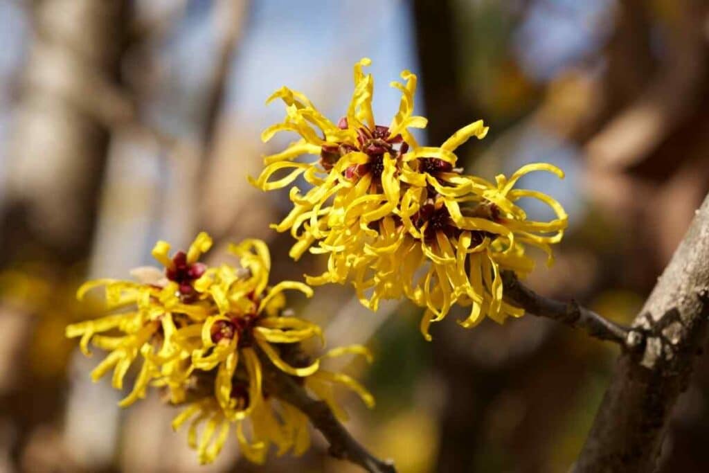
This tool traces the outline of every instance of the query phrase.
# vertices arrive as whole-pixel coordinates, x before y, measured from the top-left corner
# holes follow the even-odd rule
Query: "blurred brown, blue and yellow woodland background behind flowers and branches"
[[[128,277],[162,238],[272,244],[272,278],[317,272],[287,257],[268,224],[286,192],[250,187],[280,121],[275,89],[344,114],[352,65],[371,57],[374,112],[388,124],[401,69],[420,77],[418,113],[436,145],[484,118],[468,172],[526,162],[567,174],[523,187],[557,197],[570,229],[557,263],[529,284],[629,323],[709,190],[709,7],[701,0],[0,0],[0,471],[354,472],[316,433],[302,458],[261,469],[235,438],[198,467],[174,409],[157,396],[121,411],[91,384],[64,326],[96,316],[74,291]],[[530,208],[545,218],[545,209]],[[462,330],[452,313],[418,332],[417,308],[372,314],[347,287],[296,301],[328,344],[366,343],[347,367],[378,404],[344,395],[354,435],[401,472],[566,472],[583,445],[618,350],[527,316]],[[681,398],[665,472],[709,470],[709,357]]]

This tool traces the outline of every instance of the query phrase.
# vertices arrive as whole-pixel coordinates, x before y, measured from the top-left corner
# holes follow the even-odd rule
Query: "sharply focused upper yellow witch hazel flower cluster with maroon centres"
[[[381,299],[411,299],[426,309],[421,329],[427,339],[430,323],[442,320],[454,304],[470,307],[464,327],[484,316],[498,322],[521,316],[520,308],[503,301],[501,271],[530,272],[525,245],[545,250],[551,261],[550,245],[562,239],[567,216],[552,197],[514,187],[528,172],[563,172],[532,164],[509,179],[498,175],[494,183],[462,174],[454,151],[471,137],[484,138],[483,122],[457,130],[438,147],[418,145],[410,128],[425,128],[427,120],[413,114],[416,76],[403,71],[403,82],[391,83],[401,91],[398,113],[389,126],[376,125],[374,81],[362,71],[369,64],[365,58],[354,66],[354,94],[337,124],[286,87],[269,98],[284,101],[286,118],[264,130],[262,140],[280,131],[301,139],[265,157],[265,169],[251,181],[264,191],[298,177],[309,184],[305,193],[291,187],[293,208],[274,225],[297,240],[291,257],[297,260],[308,250],[328,255],[327,270],[307,276],[308,284],[350,282],[374,311]],[[296,160],[303,155],[317,159]],[[523,198],[542,201],[557,217],[528,221],[517,205]]]

